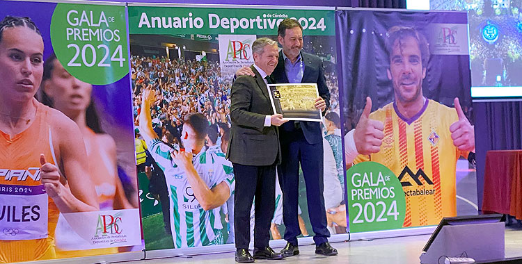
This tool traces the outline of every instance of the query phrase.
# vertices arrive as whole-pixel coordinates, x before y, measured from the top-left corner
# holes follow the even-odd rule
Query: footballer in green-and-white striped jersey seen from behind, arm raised
[[[169,146],[152,130],[150,104],[155,95],[143,92],[140,131],[152,158],[164,171],[171,204],[171,230],[175,248],[223,244],[214,213],[235,187],[232,164],[224,157],[205,151],[208,122],[200,113],[184,117],[182,144]]]

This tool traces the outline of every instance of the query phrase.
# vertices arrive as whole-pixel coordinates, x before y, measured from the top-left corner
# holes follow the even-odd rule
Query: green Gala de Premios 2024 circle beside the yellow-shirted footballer
[[[368,161],[347,170],[351,232],[400,229],[406,200],[402,185],[388,167]]]

